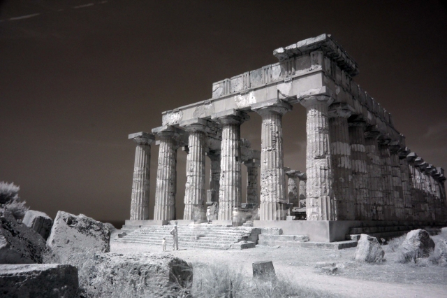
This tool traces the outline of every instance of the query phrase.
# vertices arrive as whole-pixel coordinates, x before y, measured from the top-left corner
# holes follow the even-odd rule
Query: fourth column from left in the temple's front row
[[[242,197],[240,125],[249,117],[238,111],[229,113],[213,115],[222,125],[219,220],[232,220],[233,208],[240,207]]]

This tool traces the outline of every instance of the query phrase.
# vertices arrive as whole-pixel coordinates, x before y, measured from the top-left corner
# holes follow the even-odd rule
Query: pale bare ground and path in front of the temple
[[[439,239],[441,236],[434,236]],[[386,262],[360,264],[353,261],[356,248],[315,250],[257,246],[247,250],[182,249],[163,252],[160,246],[110,241],[112,253],[149,252],[172,254],[193,265],[194,276],[200,270],[218,264],[240,271],[251,278],[251,264],[271,260],[280,276],[308,288],[325,290],[337,297],[446,297],[447,267],[433,264],[400,264],[397,253],[383,246]],[[335,263],[335,274],[317,269],[317,262]]]

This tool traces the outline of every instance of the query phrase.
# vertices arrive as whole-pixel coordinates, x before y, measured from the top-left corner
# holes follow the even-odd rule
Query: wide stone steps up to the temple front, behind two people
[[[116,239],[119,242],[147,243],[161,246],[163,236],[166,237],[166,249],[172,250],[173,236],[170,231],[173,225],[142,226],[136,229],[123,227]],[[226,225],[177,225],[179,235],[179,249],[182,248],[215,248],[215,249],[244,249],[254,248],[261,234],[261,229],[254,227],[233,227]]]

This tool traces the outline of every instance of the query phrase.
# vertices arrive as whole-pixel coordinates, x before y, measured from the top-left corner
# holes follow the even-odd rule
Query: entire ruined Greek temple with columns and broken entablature
[[[358,64],[332,36],[308,38],[273,55],[279,62],[214,83],[211,99],[163,112],[152,134],[129,135],[137,148],[126,225],[205,222],[210,208],[214,225],[248,220],[330,242],[344,240],[355,227],[446,222],[444,169],[406,147],[390,113],[353,80]],[[305,171],[283,161],[282,117],[298,104],[307,110]],[[240,138],[249,113],[262,118],[261,152]],[[159,162],[155,197],[149,198],[155,139]],[[188,153],[183,219],[175,218],[177,175],[184,174],[176,169],[179,148]],[[244,202],[242,164],[248,173]]]

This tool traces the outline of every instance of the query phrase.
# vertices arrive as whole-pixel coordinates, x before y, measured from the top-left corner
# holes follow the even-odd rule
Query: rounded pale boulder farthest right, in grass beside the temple
[[[417,257],[428,257],[434,250],[434,241],[425,229],[413,229],[408,234],[401,246],[404,255]]]

